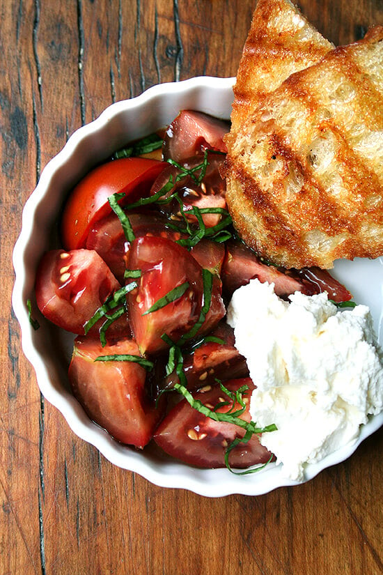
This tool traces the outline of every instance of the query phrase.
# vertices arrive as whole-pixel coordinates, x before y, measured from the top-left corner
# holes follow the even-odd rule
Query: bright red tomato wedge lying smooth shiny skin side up
[[[111,212],[108,198],[122,193],[120,204],[148,196],[150,186],[167,164],[145,158],[121,158],[89,172],[74,188],[63,211],[61,231],[68,250],[84,247],[93,224]]]

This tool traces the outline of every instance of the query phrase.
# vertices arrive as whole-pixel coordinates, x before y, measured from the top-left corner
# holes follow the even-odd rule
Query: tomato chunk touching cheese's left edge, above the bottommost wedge
[[[216,379],[225,381],[249,376],[246,360],[234,346],[233,328],[221,321],[209,335],[221,339],[222,343],[206,341],[192,353],[184,355],[189,390],[215,385]],[[174,383],[178,383],[178,376],[173,372],[166,378],[164,387],[171,388]]]

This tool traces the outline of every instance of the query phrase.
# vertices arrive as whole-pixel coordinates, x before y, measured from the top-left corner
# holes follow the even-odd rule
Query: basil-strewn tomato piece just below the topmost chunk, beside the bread
[[[219,174],[219,166],[224,161],[224,156],[221,154],[208,153],[208,166],[205,171],[202,183],[198,183],[198,177],[201,171],[194,172],[197,182],[192,176],[185,176],[176,182],[176,178],[180,176],[181,170],[178,167],[168,164],[168,167],[159,174],[155,183],[153,183],[150,194],[156,194],[161,190],[169,181],[176,182],[175,185],[164,194],[164,199],[169,198],[175,191],[178,192],[178,198],[182,202],[182,209],[184,210],[187,220],[192,224],[198,224],[196,216],[192,213],[192,208],[226,208],[226,182]],[[200,166],[203,162],[201,156],[194,156],[182,162],[182,166],[186,169],[194,169]],[[180,213],[180,204],[177,200],[173,199],[169,204],[162,204],[162,210],[168,213],[172,220],[182,220]],[[213,227],[221,221],[221,214],[219,213],[204,213],[203,223],[206,227]]]

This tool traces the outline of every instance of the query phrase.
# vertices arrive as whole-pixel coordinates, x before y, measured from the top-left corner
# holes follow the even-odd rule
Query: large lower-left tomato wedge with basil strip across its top
[[[144,447],[162,417],[146,389],[146,369],[132,361],[95,361],[102,355],[139,356],[132,339],[102,347],[78,337],[69,367],[73,394],[89,417],[121,443]]]

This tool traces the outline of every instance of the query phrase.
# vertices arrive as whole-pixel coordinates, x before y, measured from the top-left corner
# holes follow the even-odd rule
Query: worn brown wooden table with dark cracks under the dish
[[[208,499],[106,461],[20,351],[11,254],[40,171],[80,125],[158,82],[233,76],[255,0],[1,1],[0,575],[378,575],[383,430],[308,484]],[[302,0],[334,43],[382,0]]]

